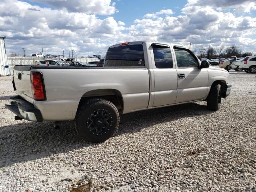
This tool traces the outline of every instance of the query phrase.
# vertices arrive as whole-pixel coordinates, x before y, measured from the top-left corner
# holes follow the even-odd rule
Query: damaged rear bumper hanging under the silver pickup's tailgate
[[[11,97],[10,100],[11,103],[5,104],[5,107],[16,114],[18,117],[28,121],[43,121],[40,110],[34,108],[34,105],[30,102],[27,102],[20,96]]]

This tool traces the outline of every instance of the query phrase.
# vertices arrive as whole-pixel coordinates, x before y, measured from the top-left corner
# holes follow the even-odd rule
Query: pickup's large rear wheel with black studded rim
[[[103,142],[114,135],[119,125],[119,113],[108,100],[94,98],[84,102],[78,109],[74,126],[88,142]]]

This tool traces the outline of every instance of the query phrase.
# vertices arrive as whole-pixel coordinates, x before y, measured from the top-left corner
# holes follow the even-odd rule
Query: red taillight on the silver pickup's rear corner
[[[45,100],[43,78],[40,72],[31,73],[31,88],[34,100]]]

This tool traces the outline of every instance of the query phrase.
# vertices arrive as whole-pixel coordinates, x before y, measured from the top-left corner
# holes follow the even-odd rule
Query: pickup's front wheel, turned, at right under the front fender
[[[217,111],[221,103],[221,85],[214,84],[211,87],[210,93],[207,97],[207,108],[212,111]]]

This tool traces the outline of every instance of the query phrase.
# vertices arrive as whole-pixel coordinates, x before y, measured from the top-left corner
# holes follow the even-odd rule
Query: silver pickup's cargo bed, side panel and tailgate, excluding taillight
[[[47,100],[32,98],[31,71],[42,73]],[[18,73],[22,74],[22,79],[18,79]],[[47,121],[74,120],[81,98],[93,96],[94,90],[120,92],[124,114],[146,109],[149,102],[147,68],[15,66],[14,81],[17,93],[40,109]]]

